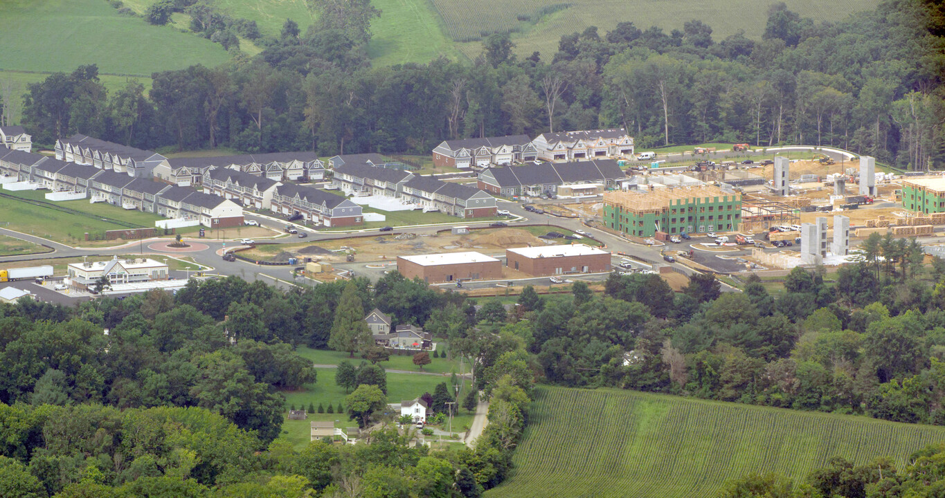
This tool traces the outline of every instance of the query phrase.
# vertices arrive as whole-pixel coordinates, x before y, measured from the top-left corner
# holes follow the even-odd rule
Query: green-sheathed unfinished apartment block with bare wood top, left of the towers
[[[637,237],[738,230],[742,195],[703,185],[604,194],[604,224]]]

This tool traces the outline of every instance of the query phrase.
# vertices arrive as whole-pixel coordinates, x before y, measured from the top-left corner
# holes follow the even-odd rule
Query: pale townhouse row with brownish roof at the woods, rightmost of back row
[[[555,163],[633,155],[633,137],[622,128],[541,133],[532,144],[538,159]]]

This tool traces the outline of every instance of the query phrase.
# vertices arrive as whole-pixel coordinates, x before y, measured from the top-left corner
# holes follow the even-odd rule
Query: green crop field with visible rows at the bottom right
[[[515,470],[488,497],[711,497],[747,472],[794,479],[833,456],[866,463],[945,441],[945,427],[617,389],[536,390]]]

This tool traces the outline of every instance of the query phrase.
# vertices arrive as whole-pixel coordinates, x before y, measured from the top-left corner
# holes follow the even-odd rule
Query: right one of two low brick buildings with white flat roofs
[[[584,244],[506,249],[506,266],[536,277],[610,271],[610,252]]]

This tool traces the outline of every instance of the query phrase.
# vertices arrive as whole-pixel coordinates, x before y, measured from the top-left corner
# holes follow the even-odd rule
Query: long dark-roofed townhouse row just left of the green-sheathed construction
[[[522,164],[520,166],[490,167],[477,177],[477,185],[491,194],[534,196],[555,194],[558,186],[597,183],[612,187],[625,178],[620,165],[612,159],[578,161],[575,163]]]

